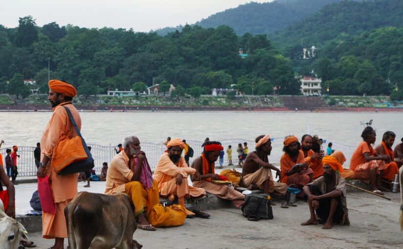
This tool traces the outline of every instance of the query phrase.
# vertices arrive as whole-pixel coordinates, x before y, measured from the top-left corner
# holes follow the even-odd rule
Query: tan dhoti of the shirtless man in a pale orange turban
[[[287,192],[287,184],[285,183],[277,183],[273,181],[272,170],[270,168],[261,167],[256,170],[254,173],[247,174],[242,178],[243,186],[249,187],[251,185],[257,186],[259,189],[263,189],[263,183],[269,180],[269,193],[277,191],[281,194],[285,194]]]

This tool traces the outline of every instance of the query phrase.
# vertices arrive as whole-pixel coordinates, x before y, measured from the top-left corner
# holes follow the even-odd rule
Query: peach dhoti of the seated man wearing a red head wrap
[[[195,181],[193,182],[193,186],[202,187],[207,192],[217,196],[218,198],[230,200],[233,202],[235,207],[241,207],[241,205],[245,202],[245,196],[241,192],[238,192],[227,185],[216,185],[208,181]]]

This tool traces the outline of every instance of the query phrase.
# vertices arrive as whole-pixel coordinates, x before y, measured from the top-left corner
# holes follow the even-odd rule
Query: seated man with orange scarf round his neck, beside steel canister
[[[390,157],[390,163],[385,163],[385,169],[383,169],[382,178],[393,181],[395,175],[399,174],[399,166],[393,155],[392,145],[395,142],[396,134],[392,131],[386,131],[383,133],[381,145],[375,147],[375,151],[379,155],[387,155]]]

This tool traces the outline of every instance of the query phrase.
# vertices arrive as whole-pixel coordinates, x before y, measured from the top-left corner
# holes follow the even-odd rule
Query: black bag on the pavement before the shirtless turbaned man
[[[248,221],[273,219],[273,209],[270,203],[271,201],[265,197],[245,195],[245,202],[242,205],[242,214],[248,218]]]

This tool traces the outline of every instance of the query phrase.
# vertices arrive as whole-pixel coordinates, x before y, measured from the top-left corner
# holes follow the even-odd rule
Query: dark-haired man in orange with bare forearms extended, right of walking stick
[[[381,178],[385,162],[389,163],[390,157],[378,155],[371,144],[375,143],[376,133],[371,126],[365,127],[362,131],[362,141],[354,150],[350,159],[350,169],[354,171],[355,179],[361,179],[371,184],[371,190],[383,194],[380,189]]]

